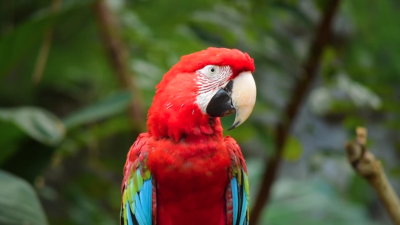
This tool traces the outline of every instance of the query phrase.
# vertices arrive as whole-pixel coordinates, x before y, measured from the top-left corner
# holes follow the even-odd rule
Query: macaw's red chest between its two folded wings
[[[154,142],[147,165],[157,182],[157,224],[225,224],[230,157],[222,139]]]

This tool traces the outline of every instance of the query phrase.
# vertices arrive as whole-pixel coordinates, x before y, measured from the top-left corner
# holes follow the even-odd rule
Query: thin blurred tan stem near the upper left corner
[[[62,0],[53,0],[51,5],[52,11],[58,12],[58,10],[60,10],[61,8],[61,4]],[[42,79],[44,67],[46,66],[50,46],[53,40],[53,32],[54,24],[50,24],[50,26],[44,32],[42,46],[40,47],[38,59],[36,61],[36,65],[32,74],[34,84],[38,84]]]

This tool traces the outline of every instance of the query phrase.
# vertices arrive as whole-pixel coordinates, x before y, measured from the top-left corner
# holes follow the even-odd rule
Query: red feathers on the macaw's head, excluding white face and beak
[[[217,134],[222,138],[219,118],[209,118],[196,103],[196,70],[206,65],[230,66],[232,76],[254,72],[253,59],[237,49],[207,48],[182,56],[156,86],[156,95],[148,112],[147,127],[156,138]],[[197,138],[198,139],[198,138]]]

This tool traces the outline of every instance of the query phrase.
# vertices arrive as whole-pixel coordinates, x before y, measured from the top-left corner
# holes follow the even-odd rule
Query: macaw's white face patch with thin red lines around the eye
[[[214,67],[216,69],[215,74],[210,74],[208,69]],[[206,114],[206,108],[211,98],[216,92],[226,86],[228,78],[232,75],[232,69],[230,66],[216,66],[207,65],[204,68],[196,71],[197,84],[198,84],[198,96],[197,104],[204,114]]]

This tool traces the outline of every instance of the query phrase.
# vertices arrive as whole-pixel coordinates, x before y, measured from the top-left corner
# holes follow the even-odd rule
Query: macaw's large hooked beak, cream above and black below
[[[236,112],[235,121],[228,129],[241,125],[250,116],[256,103],[256,82],[250,71],[242,72],[211,98],[206,112],[210,117],[225,117]]]

